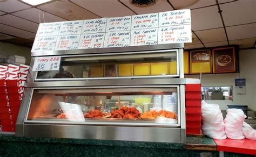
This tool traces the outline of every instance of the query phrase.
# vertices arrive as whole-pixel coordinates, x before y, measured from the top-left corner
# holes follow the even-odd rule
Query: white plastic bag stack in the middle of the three
[[[242,134],[242,123],[245,121],[245,114],[241,109],[227,109],[227,115],[224,119],[225,133],[228,138],[241,140],[244,139]]]

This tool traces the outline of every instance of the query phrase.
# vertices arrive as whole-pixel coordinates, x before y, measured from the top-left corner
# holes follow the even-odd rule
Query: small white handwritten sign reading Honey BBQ
[[[60,56],[36,57],[32,71],[59,70]]]

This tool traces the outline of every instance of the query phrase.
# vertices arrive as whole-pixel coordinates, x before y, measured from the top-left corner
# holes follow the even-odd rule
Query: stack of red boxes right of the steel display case
[[[201,84],[186,84],[186,133],[201,134]]]

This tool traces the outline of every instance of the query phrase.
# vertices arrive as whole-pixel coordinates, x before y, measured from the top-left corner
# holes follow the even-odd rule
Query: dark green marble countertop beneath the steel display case
[[[205,137],[187,137],[187,143],[165,143],[165,142],[134,142],[134,141],[114,141],[114,140],[89,140],[89,139],[62,139],[62,138],[31,138],[15,137],[10,134],[0,134],[0,141],[22,141],[41,142],[53,144],[73,144],[73,145],[100,145],[100,146],[122,146],[122,147],[143,147],[143,148],[168,148],[168,149],[198,149],[216,151],[217,146],[213,139]]]

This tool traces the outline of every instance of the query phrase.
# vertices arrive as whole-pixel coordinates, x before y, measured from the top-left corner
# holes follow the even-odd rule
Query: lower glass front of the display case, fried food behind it
[[[28,120],[177,124],[177,89],[35,89]]]

